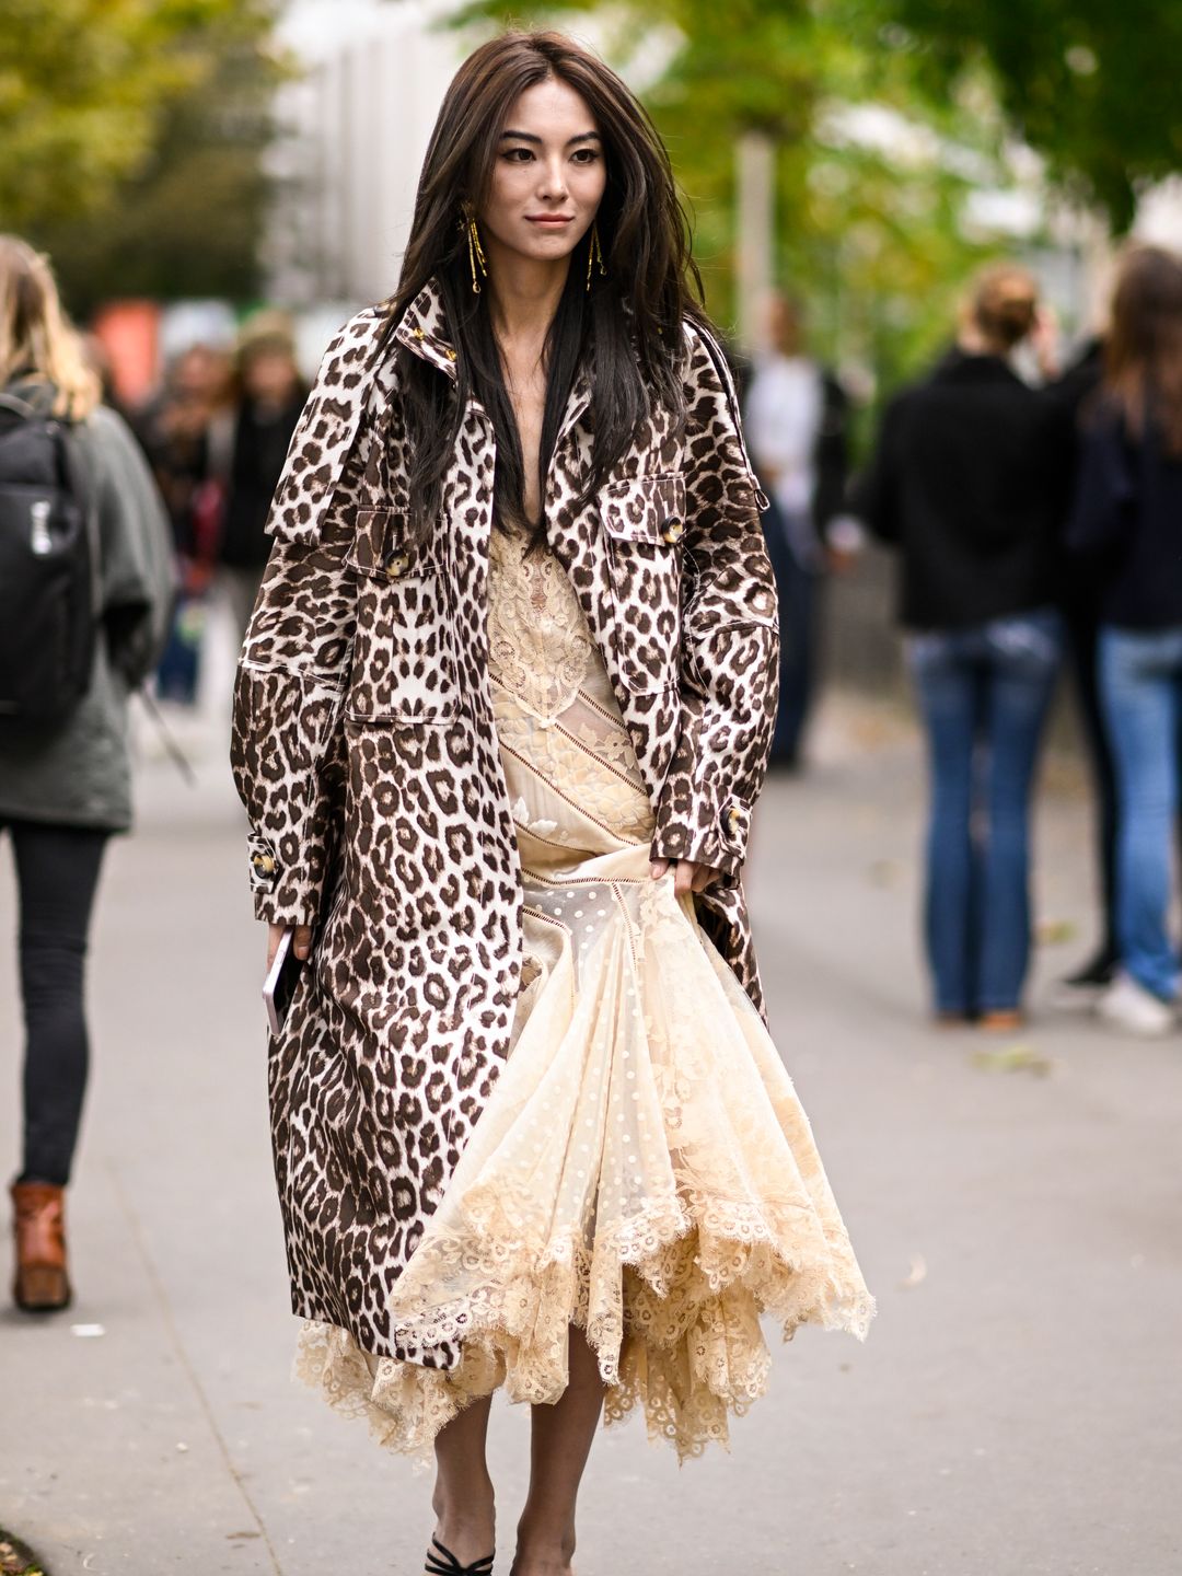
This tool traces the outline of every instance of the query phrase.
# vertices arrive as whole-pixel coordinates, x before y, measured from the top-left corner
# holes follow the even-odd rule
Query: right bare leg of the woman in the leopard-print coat
[[[604,1407],[594,1354],[574,1325],[569,1370],[563,1398],[533,1409],[530,1497],[517,1524],[511,1576],[571,1576],[575,1500]]]

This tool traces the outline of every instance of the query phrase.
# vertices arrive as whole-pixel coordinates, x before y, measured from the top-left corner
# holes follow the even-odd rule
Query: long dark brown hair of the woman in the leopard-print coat
[[[496,435],[493,503],[498,522],[525,520],[525,463],[489,314],[489,292],[471,288],[463,205],[487,195],[501,131],[517,98],[558,79],[586,102],[604,140],[607,186],[596,216],[607,265],[586,288],[591,233],[571,258],[545,345],[545,405],[539,466],[545,476],[580,362],[591,380],[594,492],[627,449],[651,405],[681,410],[684,318],[706,325],[690,232],[668,153],[621,79],[561,33],[504,33],[474,50],[443,99],[414,199],[414,221],[397,293],[388,303],[385,351],[403,312],[429,281],[443,295],[457,350],[457,383],[399,347],[399,386],[410,466],[411,530],[426,536],[440,511],[443,479],[463,410],[476,396]]]

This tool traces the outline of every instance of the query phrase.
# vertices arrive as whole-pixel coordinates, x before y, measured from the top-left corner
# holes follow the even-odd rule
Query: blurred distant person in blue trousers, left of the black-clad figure
[[[169,366],[159,394],[136,422],[169,511],[180,577],[156,692],[183,706],[197,698],[206,597],[224,528],[233,433],[230,383],[224,351],[191,345]]]

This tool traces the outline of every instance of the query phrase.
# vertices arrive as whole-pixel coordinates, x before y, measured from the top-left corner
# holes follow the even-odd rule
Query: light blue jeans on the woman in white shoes
[[[1179,808],[1182,629],[1100,630],[1100,701],[1116,761],[1116,930],[1138,985],[1173,1001],[1169,859]]]

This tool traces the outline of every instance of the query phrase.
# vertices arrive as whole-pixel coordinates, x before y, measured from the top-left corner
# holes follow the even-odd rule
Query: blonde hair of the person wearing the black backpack
[[[16,235],[0,235],[0,388],[14,377],[54,385],[54,411],[84,421],[102,399],[77,329],[61,310],[49,258]]]

